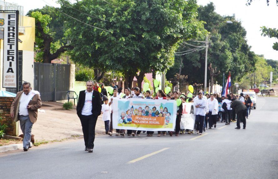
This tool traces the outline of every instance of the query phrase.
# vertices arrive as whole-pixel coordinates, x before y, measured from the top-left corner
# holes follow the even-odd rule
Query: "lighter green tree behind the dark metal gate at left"
[[[62,27],[61,24],[56,24],[56,26],[52,25],[52,28],[49,27],[49,24],[53,21],[52,17],[48,14],[56,17],[56,15],[53,15],[56,14],[55,8],[46,6],[43,7],[41,11],[46,14],[42,14],[40,11],[31,10],[27,13],[27,15],[35,18],[35,41],[37,45],[35,50],[38,51],[36,61],[51,63],[52,60],[59,57],[61,53],[71,49],[72,46],[63,45],[60,43],[60,39],[55,41],[56,30]],[[57,32],[61,34],[61,30]]]

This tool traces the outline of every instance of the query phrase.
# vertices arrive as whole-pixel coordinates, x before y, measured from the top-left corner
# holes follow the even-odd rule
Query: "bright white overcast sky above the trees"
[[[31,9],[42,8],[45,5],[60,7],[56,0],[5,0],[23,6],[24,14]],[[72,0],[73,1],[73,0]],[[263,54],[266,59],[278,60],[278,51],[272,49],[274,42],[278,39],[261,36],[260,27],[278,28],[278,7],[275,0],[255,0],[251,6],[246,6],[247,0],[198,0],[198,4],[206,5],[213,2],[216,12],[222,16],[235,14],[236,19],[242,22],[247,31],[247,41],[251,50],[256,54]]]

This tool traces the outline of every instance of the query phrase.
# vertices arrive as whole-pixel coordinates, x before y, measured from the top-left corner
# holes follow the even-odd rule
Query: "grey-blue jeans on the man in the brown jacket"
[[[31,131],[34,123],[30,121],[29,116],[19,116],[20,128],[23,133],[23,148],[30,147]]]

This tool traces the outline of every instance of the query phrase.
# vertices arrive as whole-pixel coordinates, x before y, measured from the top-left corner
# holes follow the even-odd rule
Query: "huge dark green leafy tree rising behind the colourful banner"
[[[102,72],[121,71],[128,87],[139,71],[166,72],[179,42],[195,37],[201,27],[195,0],[59,2],[63,12],[94,26],[64,17],[73,61]],[[137,77],[140,87],[143,75]]]

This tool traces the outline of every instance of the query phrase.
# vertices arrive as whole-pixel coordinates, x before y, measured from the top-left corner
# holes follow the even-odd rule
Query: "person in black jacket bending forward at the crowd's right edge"
[[[235,109],[236,115],[237,115],[237,121],[236,121],[236,128],[235,129],[240,129],[240,121],[243,122],[243,129],[246,128],[246,111],[247,107],[243,102],[236,98],[232,98],[232,103],[231,103],[231,108]]]

